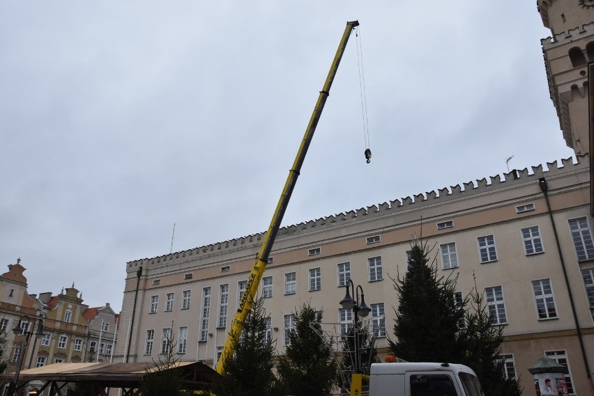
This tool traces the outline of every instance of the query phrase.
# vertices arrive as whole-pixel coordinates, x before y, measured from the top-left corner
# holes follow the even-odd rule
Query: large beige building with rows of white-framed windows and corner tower
[[[508,375],[544,356],[567,365],[570,394],[591,395],[594,367],[594,243],[590,144],[594,100],[594,1],[539,0],[553,34],[542,40],[551,99],[577,161],[419,193],[379,206],[282,228],[259,294],[282,353],[291,313],[310,301],[324,322],[347,324],[340,308],[351,278],[365,292],[370,322],[386,351],[398,296],[390,277],[406,271],[406,252],[422,235],[435,244],[440,274],[458,276],[462,296],[485,293],[504,326]],[[536,45],[536,43],[535,43]],[[579,52],[578,52],[579,50]],[[543,78],[544,74],[543,74]],[[157,359],[173,332],[183,361],[215,364],[263,235],[254,234],[126,264],[116,358]],[[385,318],[385,322],[383,319]]]

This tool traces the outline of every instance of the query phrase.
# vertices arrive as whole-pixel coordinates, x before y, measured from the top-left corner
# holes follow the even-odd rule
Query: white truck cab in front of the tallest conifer
[[[374,363],[369,390],[370,396],[484,396],[475,372],[451,363]]]

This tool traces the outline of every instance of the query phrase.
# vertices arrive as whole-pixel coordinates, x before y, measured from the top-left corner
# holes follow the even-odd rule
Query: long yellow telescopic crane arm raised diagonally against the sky
[[[237,312],[235,312],[235,317],[231,323],[231,331],[229,331],[227,339],[224,342],[222,354],[217,363],[217,372],[219,374],[223,373],[223,362],[233,355],[234,346],[241,335],[241,331],[243,330],[243,322],[245,321],[245,318],[248,317],[248,312],[250,312],[250,309],[252,308],[252,301],[254,301],[254,296],[256,296],[258,291],[262,274],[264,274],[264,269],[266,269],[268,256],[271,253],[277,232],[280,228],[282,217],[284,216],[284,212],[287,210],[287,205],[289,204],[291,194],[295,188],[297,177],[299,176],[299,172],[301,170],[301,165],[303,165],[303,160],[307,154],[307,149],[310,147],[310,143],[312,142],[314,132],[323,111],[323,106],[326,104],[326,99],[328,99],[330,86],[332,86],[332,82],[336,76],[338,65],[342,59],[342,54],[344,54],[344,49],[347,47],[347,42],[349,41],[351,31],[355,29],[356,26],[359,26],[358,21],[347,22],[347,27],[344,29],[344,33],[342,34],[342,40],[340,40],[340,45],[338,45],[336,55],[334,56],[334,60],[330,66],[330,71],[328,72],[328,77],[326,77],[326,82],[320,91],[314,112],[310,118],[310,122],[307,124],[307,129],[305,129],[305,135],[303,136],[303,140],[299,146],[293,167],[291,168],[291,171],[289,171],[287,182],[285,182],[284,188],[282,189],[282,193],[278,200],[271,224],[268,226],[268,231],[264,236],[264,241],[262,241],[262,246],[254,262],[254,267],[252,267],[252,270],[250,271],[248,284],[245,286],[245,292],[243,292]]]

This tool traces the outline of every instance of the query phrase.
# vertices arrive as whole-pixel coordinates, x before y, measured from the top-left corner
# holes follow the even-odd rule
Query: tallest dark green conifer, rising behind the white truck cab
[[[458,363],[464,350],[459,334],[464,308],[454,301],[457,277],[439,276],[436,260],[429,264],[428,255],[427,244],[415,241],[406,276],[392,279],[399,304],[390,351],[409,362]]]

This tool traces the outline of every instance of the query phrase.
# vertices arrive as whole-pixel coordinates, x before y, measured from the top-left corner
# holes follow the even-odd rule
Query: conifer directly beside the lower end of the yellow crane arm
[[[215,395],[283,395],[273,372],[276,341],[267,340],[267,327],[264,299],[256,299],[245,318],[241,337],[234,344],[234,354],[223,362],[222,376],[215,377]]]

